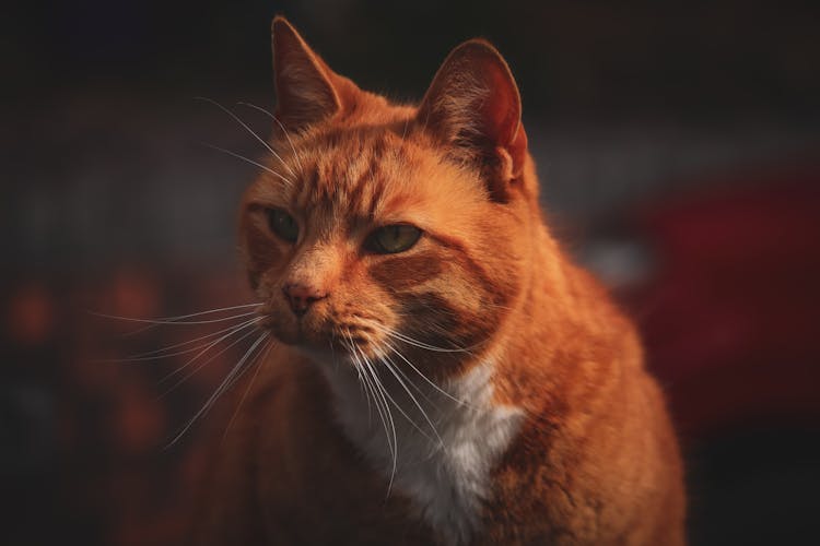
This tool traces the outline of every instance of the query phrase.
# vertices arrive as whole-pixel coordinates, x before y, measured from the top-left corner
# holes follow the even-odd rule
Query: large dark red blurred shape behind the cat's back
[[[679,427],[817,426],[820,168],[707,190],[639,219],[659,256],[637,317]]]

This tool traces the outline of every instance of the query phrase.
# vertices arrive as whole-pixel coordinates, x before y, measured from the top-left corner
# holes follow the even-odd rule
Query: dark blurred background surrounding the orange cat
[[[274,105],[274,13],[398,99],[459,41],[495,43],[553,228],[635,318],[668,393],[692,544],[816,539],[820,4],[78,0],[0,21],[0,543],[183,541],[206,427],[167,444],[249,341],[181,373],[196,353],[173,353],[242,311],[148,330],[87,311],[253,301],[234,224],[254,167],[203,143],[262,150],[194,97],[267,134],[236,103]]]

